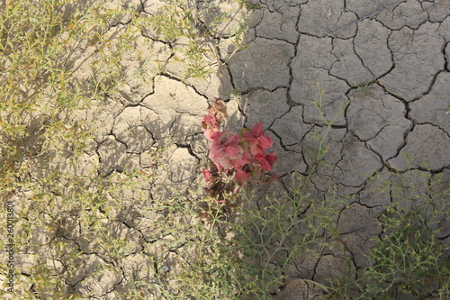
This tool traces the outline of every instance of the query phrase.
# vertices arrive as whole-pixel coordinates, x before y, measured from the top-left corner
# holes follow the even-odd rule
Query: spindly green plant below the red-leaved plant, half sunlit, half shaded
[[[205,213],[205,199],[193,191],[189,201],[179,197],[161,207],[167,210],[165,222],[155,225],[171,238],[158,239],[155,247],[172,249],[175,255],[172,264],[164,256],[156,259],[160,295],[271,299],[292,259],[325,245],[324,231],[338,203],[335,199],[315,202],[303,195],[298,180],[294,180],[298,186],[284,196],[241,195],[245,201],[237,212],[207,210],[206,223],[198,218],[199,211]],[[171,267],[164,271],[168,264]]]

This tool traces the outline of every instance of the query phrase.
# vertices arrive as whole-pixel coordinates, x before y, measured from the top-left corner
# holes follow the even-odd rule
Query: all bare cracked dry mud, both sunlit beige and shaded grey
[[[145,14],[158,1],[142,3]],[[341,241],[322,250],[318,258],[294,261],[287,274],[293,279],[277,296],[319,298],[320,289],[296,278],[327,284],[327,279],[347,272],[348,258],[352,272],[367,267],[371,239],[382,233],[377,217],[390,197],[372,192],[381,183],[369,181],[370,177],[380,173],[389,179],[390,170],[410,169],[415,178],[428,169],[450,176],[450,2],[253,0],[252,4],[259,7],[250,12],[248,49],[225,65],[211,62],[215,71],[206,81],[183,83],[184,66],[169,61],[168,43],[159,41],[154,32],[139,33],[137,47],[150,45],[144,53],[152,57],[157,53],[158,59],[169,61],[167,72],[157,74],[155,66],[148,65],[148,73],[156,75],[150,82],[128,82],[107,110],[93,107],[82,116],[95,116],[99,125],[96,150],[86,161],[100,161],[104,173],[151,168],[149,150],[170,135],[175,143],[152,193],[162,195],[169,186],[191,185],[207,153],[199,119],[208,100],[221,97],[228,102],[229,128],[264,123],[279,156],[276,172],[281,186],[289,186],[293,171],[306,174],[311,168],[310,150],[318,144],[313,132],[325,128],[312,104],[318,96],[317,83],[325,90],[328,120],[351,98],[326,141],[329,152],[324,159],[331,167],[320,167],[311,177],[311,194],[324,197],[329,186],[337,186],[340,197],[351,199],[337,216]],[[125,26],[127,20],[121,20],[111,34]],[[224,39],[218,46],[221,59],[229,51]],[[131,56],[123,64],[133,68],[139,62]],[[240,96],[231,97],[236,91]],[[131,227],[121,230],[132,232]],[[85,273],[102,263],[95,260],[90,256]],[[142,262],[146,263],[145,251],[130,250],[121,261],[122,274],[101,274],[90,293],[113,297],[133,264]],[[71,280],[75,284],[81,277],[80,273]]]

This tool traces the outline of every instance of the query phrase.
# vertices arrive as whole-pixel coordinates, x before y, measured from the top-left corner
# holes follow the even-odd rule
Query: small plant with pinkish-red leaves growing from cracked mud
[[[220,125],[228,119],[223,101],[215,99],[209,105],[208,114],[202,118],[203,134],[210,141],[209,168],[203,169],[207,182],[205,190],[219,203],[229,205],[232,195],[250,181],[270,182],[276,174],[260,180],[273,170],[278,159],[275,152],[267,153],[273,141],[257,123],[251,129],[242,128],[239,133],[221,132]]]

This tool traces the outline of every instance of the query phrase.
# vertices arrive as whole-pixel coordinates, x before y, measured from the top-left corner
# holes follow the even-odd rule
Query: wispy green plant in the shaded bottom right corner
[[[370,251],[371,265],[356,280],[335,283],[334,296],[446,299],[450,295],[450,248],[443,241],[443,226],[449,221],[448,179],[421,175],[428,178],[426,190],[405,174],[392,174],[382,187],[392,194],[392,205],[379,218],[383,234]]]

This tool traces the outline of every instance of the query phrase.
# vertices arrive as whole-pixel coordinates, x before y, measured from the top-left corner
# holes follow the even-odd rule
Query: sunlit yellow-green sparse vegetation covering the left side
[[[193,28],[202,14],[193,15],[194,6],[181,10],[183,4],[167,3],[161,12],[178,5],[177,17],[191,18],[185,26]],[[101,171],[95,116],[86,113],[93,113],[93,105],[102,110],[111,104],[130,80],[123,58],[141,58],[133,42],[144,26],[157,23],[157,14],[143,21],[136,15],[139,7],[70,0],[4,1],[0,10],[0,232],[1,248],[13,253],[1,256],[0,295],[161,295],[162,287],[153,290],[150,286],[155,285],[149,284],[154,279],[163,285],[158,255],[163,255],[161,247],[167,245],[167,254],[178,245],[165,239],[167,232],[175,228],[174,236],[179,235],[187,225],[167,226],[172,216],[166,210],[173,207],[166,201],[175,200],[149,195],[148,186],[155,179],[150,171]],[[217,23],[227,21],[225,15],[220,18]],[[159,30],[167,32],[169,25]],[[112,29],[121,26],[112,36]],[[186,35],[178,33],[178,40]],[[243,41],[240,33],[229,34]],[[193,34],[187,37],[196,39]],[[193,48],[192,43],[186,50],[188,65],[193,66],[186,77],[206,74],[195,67],[202,64],[199,53],[205,44],[199,45]],[[135,75],[146,77],[145,72]],[[155,152],[155,165],[159,157]],[[151,205],[155,201],[162,202]],[[186,233],[179,241],[191,237]],[[160,242],[153,245],[153,239]],[[142,257],[138,264],[127,260],[137,255]],[[105,277],[109,279],[102,281]]]

